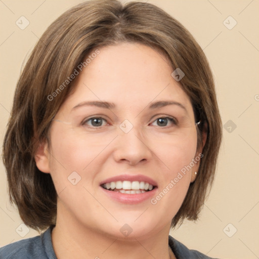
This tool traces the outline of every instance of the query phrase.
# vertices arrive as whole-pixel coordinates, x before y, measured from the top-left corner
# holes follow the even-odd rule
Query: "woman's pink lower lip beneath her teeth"
[[[157,188],[154,188],[151,191],[144,192],[144,193],[136,193],[136,194],[127,194],[127,193],[120,193],[114,191],[108,191],[100,186],[100,188],[107,194],[110,198],[119,201],[121,203],[127,204],[138,204],[145,200],[151,199],[152,196],[155,195]]]

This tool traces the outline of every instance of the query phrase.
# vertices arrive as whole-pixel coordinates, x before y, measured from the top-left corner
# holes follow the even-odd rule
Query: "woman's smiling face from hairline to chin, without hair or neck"
[[[53,178],[58,218],[117,238],[168,234],[199,164],[191,102],[157,51],[99,51],[52,123],[48,169],[37,165]]]

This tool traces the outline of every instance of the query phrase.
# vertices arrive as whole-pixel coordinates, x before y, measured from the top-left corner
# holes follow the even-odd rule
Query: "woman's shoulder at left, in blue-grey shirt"
[[[52,241],[51,231],[48,229],[40,236],[27,238],[14,242],[0,248],[2,259],[56,259]]]

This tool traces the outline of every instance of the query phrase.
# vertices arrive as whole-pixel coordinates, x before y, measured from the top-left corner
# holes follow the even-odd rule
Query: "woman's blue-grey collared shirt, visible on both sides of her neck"
[[[169,236],[169,246],[177,259],[212,259]],[[51,229],[40,236],[27,238],[0,248],[1,259],[57,259],[51,239]]]

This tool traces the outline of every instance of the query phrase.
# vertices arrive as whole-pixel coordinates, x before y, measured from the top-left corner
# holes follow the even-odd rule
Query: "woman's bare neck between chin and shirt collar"
[[[82,226],[73,217],[59,217],[52,231],[53,248],[58,259],[174,259],[175,255],[168,247],[170,224],[148,238],[121,239],[98,232],[89,226]]]

